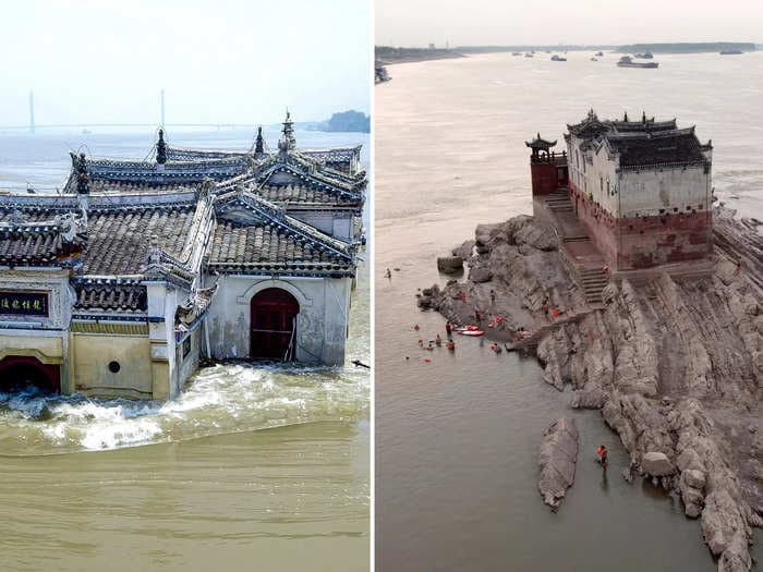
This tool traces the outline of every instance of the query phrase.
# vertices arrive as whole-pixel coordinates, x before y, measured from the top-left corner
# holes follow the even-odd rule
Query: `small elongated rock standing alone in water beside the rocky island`
[[[537,488],[543,502],[552,509],[559,508],[567,489],[574,483],[578,462],[578,427],[574,419],[559,418],[543,431],[538,465],[541,477]]]

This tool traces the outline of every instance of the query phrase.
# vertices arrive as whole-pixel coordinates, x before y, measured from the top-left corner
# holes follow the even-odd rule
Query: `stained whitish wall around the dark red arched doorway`
[[[296,360],[341,365],[350,308],[350,278],[263,279],[220,276],[206,327],[213,357],[250,356],[251,301],[266,288],[281,288],[300,304],[296,316]]]

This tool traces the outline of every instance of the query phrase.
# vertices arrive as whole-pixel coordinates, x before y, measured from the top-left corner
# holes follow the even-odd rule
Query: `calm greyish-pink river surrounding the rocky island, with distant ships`
[[[524,141],[540,132],[564,143],[565,125],[590,108],[695,123],[715,146],[716,193],[763,219],[763,52],[661,54],[657,70],[591,56],[391,65],[392,81],[375,87],[377,570],[715,570],[680,501],[641,479],[628,485],[617,436],[598,413],[569,410],[535,361],[477,340],[457,340],[452,355],[416,344],[445,334],[414,299],[445,282],[436,256],[477,223],[531,214]],[[386,268],[399,270],[387,280]],[[561,415],[577,419],[580,452],[553,514],[537,492],[537,450]],[[593,461],[600,442],[610,451],[606,474]]]

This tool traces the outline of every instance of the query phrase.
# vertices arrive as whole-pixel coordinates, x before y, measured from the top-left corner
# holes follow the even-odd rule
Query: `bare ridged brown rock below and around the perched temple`
[[[473,322],[475,308],[485,320],[500,316],[485,328],[493,339],[543,328],[544,380],[571,386],[572,406],[601,407],[630,454],[628,474],[663,475],[687,515],[701,519],[722,571],[750,569],[750,527],[763,515],[763,236],[734,215],[713,212],[710,272],[613,280],[600,308],[586,304],[553,231],[524,216],[481,224],[474,248],[460,252],[491,281],[431,296],[457,324]],[[544,300],[576,319],[549,328]],[[673,471],[645,462],[651,452]]]

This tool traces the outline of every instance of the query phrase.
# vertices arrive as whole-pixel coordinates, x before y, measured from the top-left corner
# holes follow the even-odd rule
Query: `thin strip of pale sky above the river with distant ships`
[[[763,42],[761,0],[376,0],[376,44]]]

